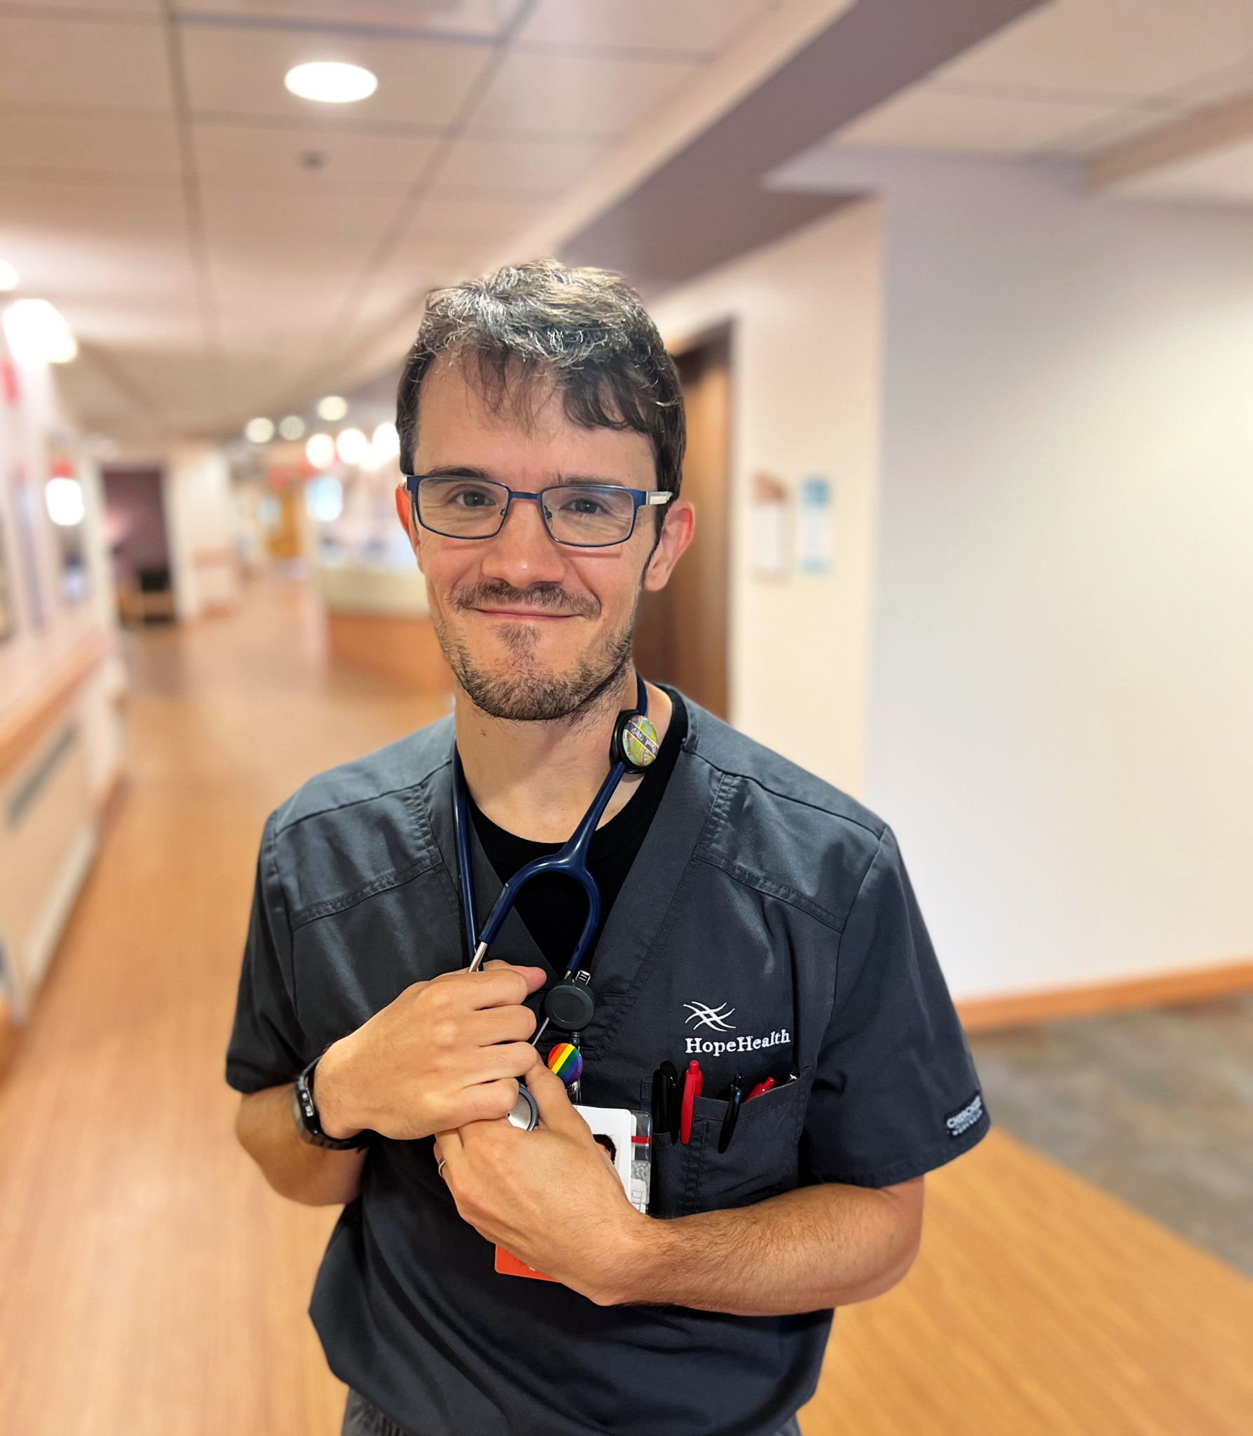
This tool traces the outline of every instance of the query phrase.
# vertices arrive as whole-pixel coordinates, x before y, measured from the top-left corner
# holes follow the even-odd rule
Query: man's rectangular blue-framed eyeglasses
[[[538,493],[491,478],[406,474],[418,523],[445,538],[495,538],[515,498],[540,505],[548,537],[574,549],[609,549],[634,533],[640,508],[669,504],[667,491],[619,484],[557,484]]]

